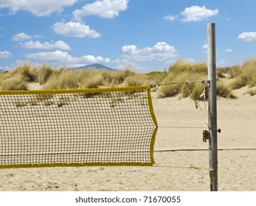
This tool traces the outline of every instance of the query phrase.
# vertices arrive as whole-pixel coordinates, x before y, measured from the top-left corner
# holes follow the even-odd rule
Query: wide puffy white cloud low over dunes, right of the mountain
[[[165,42],[156,43],[153,47],[137,49],[135,45],[122,46],[122,59],[136,61],[165,61],[176,57],[176,49]]]

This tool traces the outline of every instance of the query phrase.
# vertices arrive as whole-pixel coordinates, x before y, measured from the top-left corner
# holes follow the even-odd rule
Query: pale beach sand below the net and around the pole
[[[218,98],[219,191],[256,191],[256,96],[247,89],[235,90],[238,99]],[[210,191],[204,102],[201,110],[189,98],[152,96],[154,166],[1,169],[0,191]]]

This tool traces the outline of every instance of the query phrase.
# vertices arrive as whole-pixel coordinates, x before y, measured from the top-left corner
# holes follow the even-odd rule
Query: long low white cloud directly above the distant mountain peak
[[[34,54],[26,54],[28,60],[34,60],[36,63],[51,63],[53,65],[86,65],[90,63],[110,63],[111,60],[100,56],[85,55],[83,57],[72,57],[64,51],[47,51]]]

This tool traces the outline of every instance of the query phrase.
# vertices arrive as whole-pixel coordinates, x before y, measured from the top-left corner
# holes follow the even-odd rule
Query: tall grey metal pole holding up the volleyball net
[[[209,86],[209,170],[210,191],[218,191],[217,90],[215,57],[215,24],[207,24]]]

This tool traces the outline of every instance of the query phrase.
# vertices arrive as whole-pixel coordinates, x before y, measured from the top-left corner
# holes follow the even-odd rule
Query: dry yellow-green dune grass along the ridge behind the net
[[[162,85],[157,89],[159,98],[178,96],[202,100],[204,85],[201,80],[207,79],[206,63],[190,63],[187,60],[177,60],[165,71],[152,71],[141,74],[131,71],[131,65],[120,71],[97,70],[69,70],[67,68],[53,68],[51,65],[36,67],[30,63],[23,63],[13,71],[0,74],[1,90],[27,90],[30,82],[38,82],[43,89],[63,88],[105,88],[128,87],[138,85]],[[243,65],[217,69],[217,93],[224,98],[235,99],[233,91],[247,86],[251,96],[256,94],[256,59],[248,59]],[[170,84],[173,83],[173,84]],[[207,87],[206,87],[207,89]],[[65,99],[64,99],[65,100]],[[68,104],[68,101],[60,104]],[[30,99],[29,104],[43,102],[51,105],[49,99]],[[21,106],[18,104],[18,106]],[[23,105],[22,105],[23,106]]]

